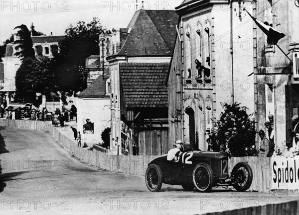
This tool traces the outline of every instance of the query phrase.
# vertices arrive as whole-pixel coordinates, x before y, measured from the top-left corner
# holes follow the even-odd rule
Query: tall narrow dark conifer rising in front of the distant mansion
[[[33,43],[27,26],[22,24],[20,26],[16,26],[14,29],[19,29],[16,35],[20,38],[19,40],[13,42],[14,44],[17,44],[15,47],[17,52],[14,55],[18,56],[19,58],[34,58],[35,53],[34,49],[32,48]]]

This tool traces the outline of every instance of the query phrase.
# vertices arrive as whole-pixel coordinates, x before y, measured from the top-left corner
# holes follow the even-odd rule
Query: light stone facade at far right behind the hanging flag
[[[299,4],[296,1],[255,1],[253,16],[268,22],[286,36],[278,48],[254,25],[254,76],[256,127],[266,131],[265,121],[274,115],[276,148],[291,147],[292,117],[299,114]]]

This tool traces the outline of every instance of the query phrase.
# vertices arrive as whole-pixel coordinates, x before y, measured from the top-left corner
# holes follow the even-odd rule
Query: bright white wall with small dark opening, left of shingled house
[[[75,98],[77,107],[77,130],[82,135],[82,143],[91,146],[94,143],[102,143],[102,132],[110,127],[111,111],[110,98]],[[86,119],[94,123],[94,134],[83,134],[83,125]]]

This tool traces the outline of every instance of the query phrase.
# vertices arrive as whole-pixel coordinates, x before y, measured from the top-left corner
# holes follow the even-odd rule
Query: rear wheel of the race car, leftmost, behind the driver
[[[162,171],[157,164],[150,164],[146,171],[146,185],[150,192],[159,192],[162,187]]]

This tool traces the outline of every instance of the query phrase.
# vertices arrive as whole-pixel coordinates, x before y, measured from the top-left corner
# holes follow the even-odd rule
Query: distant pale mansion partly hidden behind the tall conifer
[[[63,40],[64,36],[32,36],[33,49],[36,57],[46,56],[53,58],[56,53],[59,53],[58,42]],[[14,41],[17,40],[14,35]],[[9,43],[6,45],[5,56],[2,58],[4,65],[4,88],[1,91],[15,91],[15,73],[21,65],[20,59],[14,54],[17,52],[15,47],[17,44]]]

